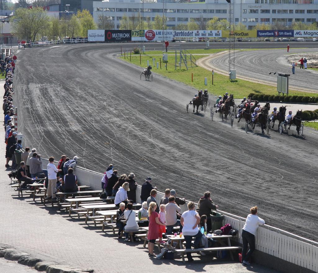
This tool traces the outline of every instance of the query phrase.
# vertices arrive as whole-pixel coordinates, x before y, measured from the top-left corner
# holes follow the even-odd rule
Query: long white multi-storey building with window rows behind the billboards
[[[159,3],[159,1],[161,3]],[[229,3],[225,0],[207,0],[197,3],[170,3],[158,0],[158,3],[143,3],[143,18],[146,21],[155,16],[167,17],[167,29],[174,29],[177,24],[187,24],[191,20],[200,17],[211,19],[229,19]],[[178,0],[176,0],[178,1]],[[318,0],[232,0],[234,13],[232,18],[236,24],[242,22],[249,30],[257,23],[271,24],[281,23],[290,25],[293,20],[303,23],[318,21]],[[208,10],[208,12],[206,12]],[[93,17],[98,24],[98,17],[102,14],[114,23],[115,29],[119,29],[120,20],[125,14],[128,17],[142,14],[141,0],[109,0],[109,2],[93,2]]]

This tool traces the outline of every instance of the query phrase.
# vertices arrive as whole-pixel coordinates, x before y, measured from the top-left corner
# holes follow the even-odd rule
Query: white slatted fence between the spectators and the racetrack
[[[43,160],[43,168],[48,164],[47,159]],[[81,167],[75,168],[75,174],[78,176],[79,183],[91,186],[93,190],[101,189],[102,173],[90,171]],[[141,186],[136,190],[137,202],[140,199]],[[157,192],[156,200],[159,204],[164,193]],[[187,201],[189,202],[189,201]],[[197,204],[196,204],[197,205]],[[182,212],[187,210],[186,204],[181,206]],[[245,218],[220,211],[224,214],[224,223],[229,223],[233,228],[239,230],[237,242],[242,243],[241,233],[245,224]],[[297,240],[295,238],[301,239]],[[284,261],[299,265],[314,272],[318,272],[318,243],[291,234],[279,228],[268,225],[259,227],[256,236],[256,249],[266,254],[280,258]]]

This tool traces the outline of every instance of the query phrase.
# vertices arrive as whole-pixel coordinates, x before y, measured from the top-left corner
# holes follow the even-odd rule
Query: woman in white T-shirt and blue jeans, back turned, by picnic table
[[[183,226],[182,233],[185,239],[185,248],[191,249],[192,237],[194,240],[194,248],[199,248],[201,242],[202,233],[199,231],[198,224],[200,222],[200,216],[195,211],[195,204],[193,202],[188,203],[188,209],[181,215],[181,225]],[[187,258],[189,262],[193,262],[191,252],[187,252]]]

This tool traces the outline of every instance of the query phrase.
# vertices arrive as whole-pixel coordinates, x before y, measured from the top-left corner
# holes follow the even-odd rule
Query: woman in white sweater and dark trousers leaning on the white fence
[[[255,250],[255,235],[259,225],[264,225],[265,221],[259,218],[257,214],[257,206],[250,208],[251,214],[247,215],[245,225],[242,229],[242,264],[250,265],[248,260],[251,258],[253,251]],[[247,246],[250,246],[250,250],[247,251]]]

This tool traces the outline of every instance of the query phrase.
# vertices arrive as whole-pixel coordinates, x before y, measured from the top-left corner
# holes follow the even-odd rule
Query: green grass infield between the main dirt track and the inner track
[[[189,50],[190,51],[190,50]],[[214,50],[214,51],[223,51],[220,50]],[[201,50],[194,50],[194,52],[201,52]],[[147,52],[149,53],[149,52]],[[156,51],[154,51],[156,53]],[[162,52],[161,52],[162,53]],[[206,55],[195,55],[194,56],[197,60],[203,57],[206,57]],[[130,61],[130,58],[126,56],[126,59],[124,57],[120,57],[123,60]],[[152,58],[155,58],[155,66],[152,65]],[[133,55],[131,56],[131,63],[140,66],[142,68],[147,66],[147,60],[149,60],[149,63],[152,65],[152,72],[161,74],[162,76],[165,76],[169,79],[173,79],[176,81],[183,82],[189,86],[192,86],[196,89],[208,89],[210,94],[214,95],[223,95],[225,92],[229,92],[230,94],[234,94],[234,98],[243,98],[247,96],[250,93],[255,94],[270,94],[270,95],[277,95],[277,88],[270,85],[265,84],[259,84],[254,83],[251,81],[245,81],[245,80],[236,80],[236,81],[229,81],[229,77],[225,75],[221,75],[214,72],[213,76],[213,85],[212,85],[212,73],[211,71],[204,69],[202,67],[190,67],[188,65],[189,70],[186,70],[186,68],[183,66],[181,70],[175,70],[175,56],[174,55],[168,55],[168,66],[167,70],[165,69],[165,64],[161,61],[161,68],[159,66],[159,69],[156,67],[156,62],[159,62],[160,56],[155,55],[149,55],[144,54],[141,56],[141,65],[140,65],[140,57],[139,55]],[[162,58],[161,58],[162,59]],[[189,62],[190,63],[190,62]],[[142,72],[143,69],[140,69]],[[193,73],[193,82],[191,81],[191,73]],[[208,78],[208,85],[204,85],[204,78]],[[154,76],[154,80],[156,79],[156,76]],[[317,96],[316,93],[305,93],[301,91],[295,91],[295,90],[289,90],[289,95],[313,95]]]

